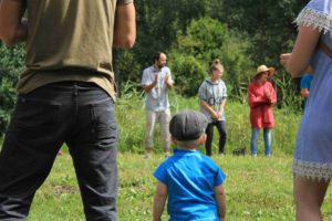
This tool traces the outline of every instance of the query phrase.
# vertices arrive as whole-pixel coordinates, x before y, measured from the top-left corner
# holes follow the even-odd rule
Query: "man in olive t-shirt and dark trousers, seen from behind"
[[[112,46],[132,48],[135,36],[133,0],[0,0],[0,40],[27,42],[0,152],[0,220],[27,219],[64,143],[86,220],[116,220]]]

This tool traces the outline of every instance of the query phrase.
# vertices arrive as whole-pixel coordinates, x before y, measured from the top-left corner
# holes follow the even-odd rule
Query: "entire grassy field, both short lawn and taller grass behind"
[[[179,109],[198,109],[197,98],[181,98],[172,95],[172,113]],[[276,128],[272,130],[272,157],[262,157],[262,135],[259,140],[259,156],[236,157],[232,149],[246,147],[249,150],[250,125],[247,104],[228,102],[226,106],[228,138],[226,156],[214,160],[227,173],[228,221],[294,220],[292,198],[292,152],[301,113],[291,108],[274,108]],[[118,143],[118,220],[152,220],[152,204],[156,180],[152,176],[165,159],[162,156],[158,128],[155,136],[155,154],[143,159],[145,127],[144,101],[136,96],[123,97],[117,103],[116,118],[120,125]],[[214,140],[217,152],[217,138]],[[204,151],[204,149],[203,149]],[[79,221],[84,220],[80,192],[66,148],[59,156],[50,177],[37,192],[30,221]],[[324,220],[332,221],[332,190],[328,191],[323,206]],[[166,220],[167,214],[164,213]]]

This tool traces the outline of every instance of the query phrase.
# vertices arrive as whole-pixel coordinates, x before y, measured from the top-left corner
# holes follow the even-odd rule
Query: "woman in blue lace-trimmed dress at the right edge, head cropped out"
[[[332,177],[331,21],[332,1],[311,0],[295,20],[299,34],[292,53],[280,55],[292,76],[310,67],[313,76],[293,160],[297,220],[301,221],[323,220],[320,208]]]

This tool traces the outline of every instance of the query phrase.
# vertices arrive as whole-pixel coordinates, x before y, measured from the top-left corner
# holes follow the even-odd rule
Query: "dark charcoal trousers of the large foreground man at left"
[[[0,152],[1,221],[27,219],[33,196],[64,143],[86,220],[116,220],[114,106],[103,90],[83,82],[49,84],[18,97]]]

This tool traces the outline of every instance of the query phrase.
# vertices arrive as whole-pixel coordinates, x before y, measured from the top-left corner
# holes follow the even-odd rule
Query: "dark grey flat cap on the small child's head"
[[[196,110],[178,112],[170,119],[169,133],[177,140],[194,140],[198,139],[205,131],[208,120],[206,116]]]

